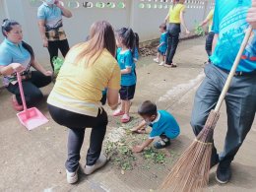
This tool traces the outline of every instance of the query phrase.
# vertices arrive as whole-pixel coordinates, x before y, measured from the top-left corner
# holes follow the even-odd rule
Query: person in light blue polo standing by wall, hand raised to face
[[[59,0],[44,0],[38,7],[37,18],[43,46],[48,48],[50,63],[58,56],[58,49],[65,57],[69,51],[69,43],[63,30],[62,16],[72,17],[72,13],[64,8]]]

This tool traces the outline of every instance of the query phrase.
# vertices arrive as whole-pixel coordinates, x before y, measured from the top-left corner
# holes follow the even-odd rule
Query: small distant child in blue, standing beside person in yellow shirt
[[[158,46],[158,56],[157,58],[154,59],[154,61],[156,63],[160,62],[160,56],[162,58],[162,61],[160,62],[160,66],[164,65],[164,61],[165,61],[165,53],[167,50],[167,32],[166,32],[166,25],[165,24],[161,24],[160,25],[160,45]]]

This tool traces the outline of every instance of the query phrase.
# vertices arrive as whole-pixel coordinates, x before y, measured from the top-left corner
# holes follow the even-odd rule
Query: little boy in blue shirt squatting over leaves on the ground
[[[156,137],[160,136],[160,141],[154,144],[156,149],[162,149],[170,145],[170,139],[175,139],[179,133],[179,126],[175,118],[165,110],[158,110],[157,105],[146,100],[139,107],[138,113],[144,119],[139,126],[131,131],[137,133],[145,133],[145,126],[152,127],[150,137],[142,145],[135,146],[133,152],[142,152],[148,147]]]

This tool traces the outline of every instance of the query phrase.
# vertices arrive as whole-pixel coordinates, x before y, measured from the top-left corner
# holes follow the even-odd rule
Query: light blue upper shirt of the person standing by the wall
[[[46,32],[62,27],[62,11],[56,5],[42,3],[37,9],[37,18],[45,21]]]

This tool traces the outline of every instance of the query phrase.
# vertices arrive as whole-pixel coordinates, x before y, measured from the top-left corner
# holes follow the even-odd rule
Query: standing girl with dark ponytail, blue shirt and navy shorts
[[[130,121],[130,100],[133,99],[136,88],[134,63],[135,34],[132,29],[122,28],[116,36],[117,62],[121,70],[121,108],[114,111],[113,116],[121,116],[121,122]]]

